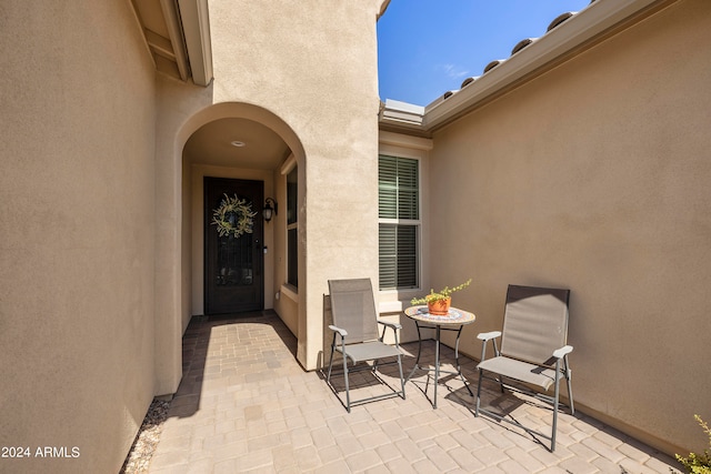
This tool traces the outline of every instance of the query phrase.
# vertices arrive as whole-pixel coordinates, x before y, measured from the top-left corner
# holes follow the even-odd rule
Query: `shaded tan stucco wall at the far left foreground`
[[[118,472],[153,395],[154,68],[126,1],[0,19],[0,445],[32,456],[0,471]]]

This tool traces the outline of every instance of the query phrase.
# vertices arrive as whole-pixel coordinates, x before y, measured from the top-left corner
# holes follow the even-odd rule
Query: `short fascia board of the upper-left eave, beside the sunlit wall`
[[[178,0],[188,48],[192,81],[208,85],[212,81],[212,42],[208,0]]]

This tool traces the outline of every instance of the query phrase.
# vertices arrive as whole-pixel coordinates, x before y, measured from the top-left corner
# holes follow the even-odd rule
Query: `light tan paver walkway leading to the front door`
[[[404,349],[415,355],[417,343]],[[425,341],[424,349],[423,361],[433,360],[433,343]],[[183,380],[150,472],[678,472],[671,457],[579,413],[560,415],[558,446],[550,453],[523,431],[474,417],[472,397],[457,377],[440,385],[437,410],[423,393],[421,373],[407,384],[407,400],[364,404],[349,414],[319,372],[301,369],[296,350],[294,336],[271,311],[193,319],[183,337]],[[453,351],[442,355],[452,362]],[[405,371],[413,364],[413,356],[404,359]],[[462,369],[475,390],[474,362],[462,357]],[[361,394],[387,390],[367,372],[351,380],[363,385]],[[510,404],[529,425],[549,423],[550,412],[513,395],[487,395]]]

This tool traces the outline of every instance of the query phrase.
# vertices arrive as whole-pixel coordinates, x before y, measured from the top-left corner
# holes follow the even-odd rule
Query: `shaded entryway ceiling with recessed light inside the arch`
[[[244,147],[232,145],[241,141]],[[270,128],[249,119],[219,119],[206,123],[186,142],[190,163],[273,170],[288,157],[287,143]]]

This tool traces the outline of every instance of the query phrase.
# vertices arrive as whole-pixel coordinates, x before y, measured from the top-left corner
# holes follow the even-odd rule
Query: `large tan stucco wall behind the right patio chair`
[[[711,418],[709,24],[674,3],[438,131],[429,170],[432,281],[473,279],[462,350],[507,284],[570,288],[575,404],[671,453]]]

